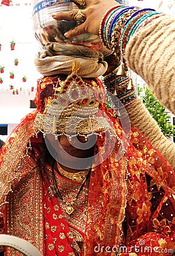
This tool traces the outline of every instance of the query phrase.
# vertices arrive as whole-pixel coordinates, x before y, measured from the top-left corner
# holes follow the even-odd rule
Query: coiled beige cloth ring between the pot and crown
[[[79,61],[78,74],[82,77],[103,75],[108,64],[103,61],[103,53],[72,44],[47,43],[44,51],[39,52],[34,61],[37,71],[44,76],[69,75],[72,63]]]

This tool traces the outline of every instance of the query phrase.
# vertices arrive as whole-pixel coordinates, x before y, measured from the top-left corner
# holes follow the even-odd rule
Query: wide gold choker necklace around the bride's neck
[[[74,180],[78,183],[83,183],[83,181],[86,179],[87,174],[90,170],[90,168],[88,168],[87,170],[83,170],[80,172],[66,172],[65,170],[63,170],[63,168],[59,165],[58,162],[57,162],[57,168],[62,176],[65,176],[68,179]]]

